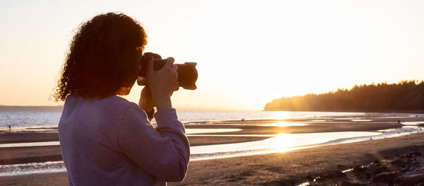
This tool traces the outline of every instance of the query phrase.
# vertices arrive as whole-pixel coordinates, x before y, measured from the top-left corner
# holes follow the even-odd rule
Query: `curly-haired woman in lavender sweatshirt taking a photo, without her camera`
[[[141,25],[122,13],[95,16],[73,37],[55,94],[65,100],[59,140],[69,185],[184,179],[189,142],[170,100],[178,87],[174,59],[158,71],[148,59],[139,105],[117,96],[134,85],[146,43]],[[149,120],[153,107],[156,128]]]

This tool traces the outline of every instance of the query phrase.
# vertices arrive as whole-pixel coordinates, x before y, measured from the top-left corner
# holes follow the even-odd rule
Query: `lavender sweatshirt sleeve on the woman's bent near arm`
[[[126,109],[119,126],[118,144],[134,163],[160,181],[182,181],[190,149],[184,125],[173,108],[155,113],[158,127],[148,122],[136,104]]]

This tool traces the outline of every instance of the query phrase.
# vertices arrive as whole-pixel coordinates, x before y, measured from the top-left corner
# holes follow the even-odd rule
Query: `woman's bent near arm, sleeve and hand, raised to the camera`
[[[170,96],[178,90],[177,67],[174,59],[167,59],[165,66],[153,70],[153,58],[148,59],[148,86],[141,91],[139,107],[155,113],[158,127],[154,129],[146,119],[137,118],[140,110],[129,109],[119,129],[119,146],[132,161],[143,170],[162,181],[182,181],[187,173],[190,148],[184,125],[179,122]]]

